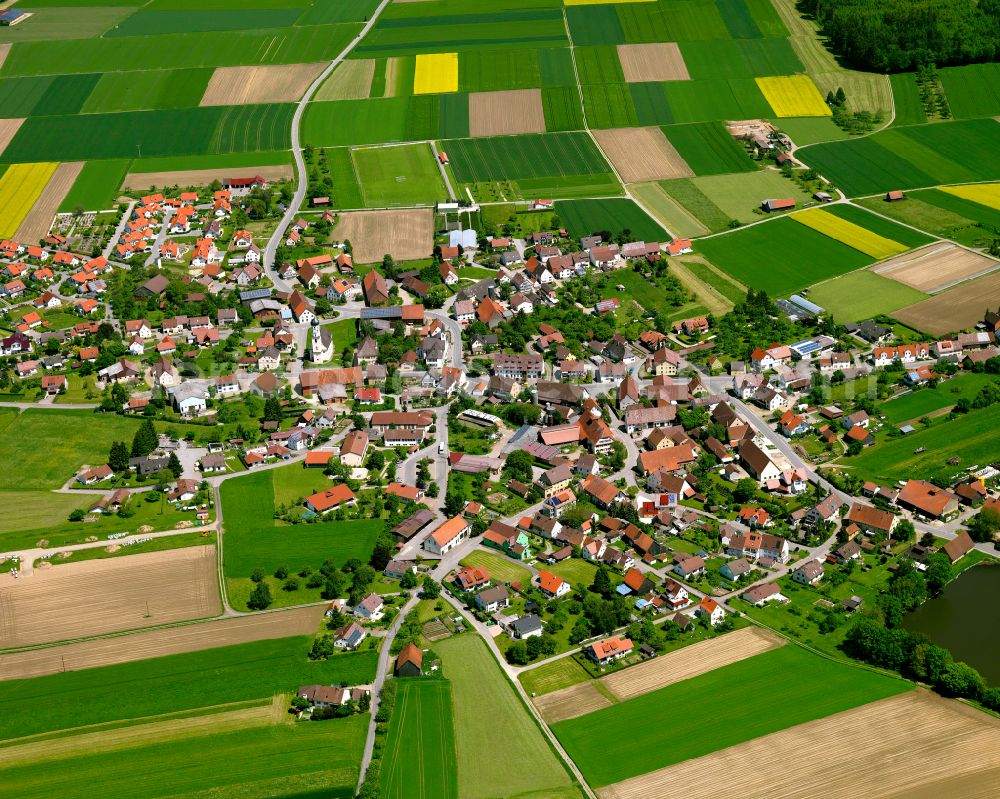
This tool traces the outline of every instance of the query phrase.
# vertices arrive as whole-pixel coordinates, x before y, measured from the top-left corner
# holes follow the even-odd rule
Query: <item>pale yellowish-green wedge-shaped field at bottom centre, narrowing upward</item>
[[[466,634],[434,646],[452,684],[459,796],[579,799],[569,773],[483,640]]]

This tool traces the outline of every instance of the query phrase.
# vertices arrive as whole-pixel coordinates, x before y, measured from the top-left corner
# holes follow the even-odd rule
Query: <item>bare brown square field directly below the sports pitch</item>
[[[434,214],[430,208],[350,211],[340,215],[334,237],[351,240],[359,264],[381,261],[386,253],[399,261],[426,258],[434,249]]]

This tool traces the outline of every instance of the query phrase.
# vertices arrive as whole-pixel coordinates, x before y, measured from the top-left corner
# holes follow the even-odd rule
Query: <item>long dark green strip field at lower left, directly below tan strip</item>
[[[296,636],[0,682],[2,737],[270,698],[306,684],[356,685],[375,676],[374,651],[310,661],[311,646],[311,636]],[[18,712],[28,706],[31,713]]]

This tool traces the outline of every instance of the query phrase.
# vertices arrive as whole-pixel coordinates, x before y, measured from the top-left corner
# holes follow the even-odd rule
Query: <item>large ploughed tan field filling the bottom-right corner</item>
[[[1000,720],[913,690],[598,791],[601,799],[985,797],[1000,793]],[[830,768],[830,763],[850,763]],[[780,763],[781,768],[774,768]]]

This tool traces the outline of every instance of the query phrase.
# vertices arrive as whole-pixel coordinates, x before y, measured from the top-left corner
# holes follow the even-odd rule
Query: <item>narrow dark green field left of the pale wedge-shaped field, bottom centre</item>
[[[457,799],[449,682],[399,681],[380,777],[384,799]]]

